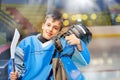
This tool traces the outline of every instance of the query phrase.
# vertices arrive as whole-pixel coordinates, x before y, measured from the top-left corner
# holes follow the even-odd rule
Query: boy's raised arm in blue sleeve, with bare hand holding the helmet
[[[80,59],[80,64],[84,64],[87,65],[90,62],[90,52],[87,48],[87,45],[80,40],[79,38],[77,38],[74,34],[71,34],[69,36],[66,36],[65,39],[67,40],[67,42],[70,45],[75,45],[76,46],[76,54],[78,54],[77,56],[79,56]],[[73,54],[74,56],[74,54]]]

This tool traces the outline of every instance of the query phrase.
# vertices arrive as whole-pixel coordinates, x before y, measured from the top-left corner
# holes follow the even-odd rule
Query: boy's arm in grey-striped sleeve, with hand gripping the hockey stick
[[[21,80],[23,72],[25,71],[23,65],[23,51],[20,48],[16,48],[15,52],[15,72],[10,72],[8,80]],[[12,69],[11,60],[9,63],[9,70]]]

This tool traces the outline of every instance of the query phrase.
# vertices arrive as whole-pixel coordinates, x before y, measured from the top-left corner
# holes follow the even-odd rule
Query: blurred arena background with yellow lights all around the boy
[[[7,80],[15,28],[21,39],[41,32],[53,9],[63,12],[65,27],[82,23],[93,34],[90,64],[76,64],[86,80],[120,80],[120,0],[0,0],[0,80]]]

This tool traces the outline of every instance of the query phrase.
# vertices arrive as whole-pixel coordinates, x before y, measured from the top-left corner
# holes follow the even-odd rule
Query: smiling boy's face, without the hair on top
[[[43,37],[50,40],[56,37],[60,31],[61,22],[59,20],[53,20],[53,18],[47,18],[43,23]]]

